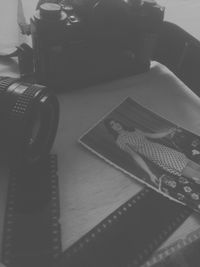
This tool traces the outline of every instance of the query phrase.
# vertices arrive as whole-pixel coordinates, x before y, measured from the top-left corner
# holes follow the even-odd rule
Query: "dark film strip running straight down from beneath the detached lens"
[[[61,252],[57,157],[12,171],[2,261],[7,267],[51,266]]]

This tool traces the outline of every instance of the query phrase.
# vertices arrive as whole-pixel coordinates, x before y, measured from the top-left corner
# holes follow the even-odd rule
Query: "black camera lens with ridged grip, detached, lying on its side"
[[[58,100],[47,87],[0,77],[1,160],[19,165],[48,154],[58,118]]]

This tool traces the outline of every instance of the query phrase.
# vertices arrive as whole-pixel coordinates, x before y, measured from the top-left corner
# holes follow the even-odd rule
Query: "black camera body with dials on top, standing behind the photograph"
[[[31,19],[36,81],[70,90],[147,71],[163,17],[154,0],[40,1]]]

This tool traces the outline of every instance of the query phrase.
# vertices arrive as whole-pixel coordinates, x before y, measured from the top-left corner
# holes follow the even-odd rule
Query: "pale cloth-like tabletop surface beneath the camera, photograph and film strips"
[[[199,97],[156,62],[148,73],[60,95],[61,118],[54,151],[59,159],[63,249],[142,188],[78,143],[88,128],[127,96],[200,134]],[[196,229],[199,223],[199,215],[191,217],[173,239]]]

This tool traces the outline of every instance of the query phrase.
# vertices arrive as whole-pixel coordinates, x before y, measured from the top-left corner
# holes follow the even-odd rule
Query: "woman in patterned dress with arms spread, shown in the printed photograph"
[[[175,128],[163,132],[148,133],[137,128],[127,129],[115,119],[104,120],[108,132],[112,134],[117,146],[127,152],[133,160],[149,175],[154,184],[158,178],[151,171],[143,158],[148,159],[156,166],[168,173],[192,179],[200,183],[200,165],[190,160],[184,153],[156,142],[175,131]]]

